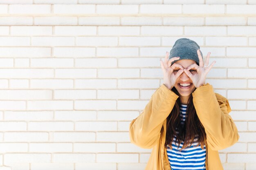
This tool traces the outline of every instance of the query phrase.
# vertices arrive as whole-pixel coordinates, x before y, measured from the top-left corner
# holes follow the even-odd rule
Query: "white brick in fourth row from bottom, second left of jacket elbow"
[[[90,142],[95,141],[94,132],[54,132],[53,141],[55,142]]]

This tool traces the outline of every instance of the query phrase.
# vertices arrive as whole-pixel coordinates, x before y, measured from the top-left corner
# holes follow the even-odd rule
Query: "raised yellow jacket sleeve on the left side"
[[[179,96],[162,84],[151,96],[143,112],[129,126],[131,143],[141,148],[153,148],[160,139],[164,120]]]

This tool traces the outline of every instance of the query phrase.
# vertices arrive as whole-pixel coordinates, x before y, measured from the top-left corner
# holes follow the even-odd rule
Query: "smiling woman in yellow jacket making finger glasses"
[[[218,150],[239,135],[228,100],[205,83],[209,57],[204,63],[200,46],[181,38],[160,60],[164,83],[130,123],[131,142],[153,148],[146,170],[223,170]]]

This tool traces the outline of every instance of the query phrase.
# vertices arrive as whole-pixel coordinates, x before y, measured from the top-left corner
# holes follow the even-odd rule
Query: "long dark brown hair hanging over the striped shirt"
[[[179,95],[175,87],[172,88],[172,91]],[[184,125],[182,126],[179,97],[173,106],[173,110],[167,117],[165,147],[166,145],[169,145],[170,148],[172,148],[172,141],[176,144],[179,144],[178,146],[180,146],[181,142],[183,141],[184,144],[180,149],[181,151],[183,148],[191,146],[195,137],[197,137],[197,146],[201,145],[201,148],[203,149],[204,144],[206,144],[206,134],[204,127],[202,126],[198,115],[196,114],[192,93],[190,94],[187,103],[186,116],[187,117],[185,119]],[[174,135],[176,135],[175,141]]]

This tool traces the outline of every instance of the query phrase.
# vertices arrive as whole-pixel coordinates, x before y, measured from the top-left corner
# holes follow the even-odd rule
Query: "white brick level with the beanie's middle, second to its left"
[[[137,47],[99,47],[97,48],[98,57],[137,57],[139,48]]]

